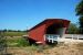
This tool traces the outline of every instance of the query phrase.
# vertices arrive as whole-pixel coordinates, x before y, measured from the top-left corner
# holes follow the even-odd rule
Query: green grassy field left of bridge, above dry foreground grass
[[[25,34],[25,32],[6,32],[6,30],[3,33],[1,33],[1,35],[7,37],[6,43],[8,44],[8,46],[28,46],[28,41],[22,37],[22,35]],[[3,43],[3,41],[1,41],[0,43]]]

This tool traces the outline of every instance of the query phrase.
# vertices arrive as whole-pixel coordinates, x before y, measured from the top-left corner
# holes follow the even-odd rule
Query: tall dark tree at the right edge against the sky
[[[80,33],[83,34],[83,0],[75,8],[76,15],[79,15]]]

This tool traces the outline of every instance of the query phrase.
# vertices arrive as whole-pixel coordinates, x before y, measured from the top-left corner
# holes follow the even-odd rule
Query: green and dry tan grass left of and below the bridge
[[[83,55],[83,43],[79,44],[59,44],[58,46],[46,46],[42,53],[38,53],[38,46],[29,45],[22,35],[22,32],[7,32],[8,53],[12,55]],[[13,37],[10,37],[13,36]],[[18,37],[19,36],[19,37]]]

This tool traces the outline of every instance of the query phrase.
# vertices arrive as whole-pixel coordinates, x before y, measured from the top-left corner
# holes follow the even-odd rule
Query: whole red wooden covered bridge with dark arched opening
[[[54,43],[66,32],[70,21],[63,19],[46,19],[29,30],[29,42],[42,44]]]

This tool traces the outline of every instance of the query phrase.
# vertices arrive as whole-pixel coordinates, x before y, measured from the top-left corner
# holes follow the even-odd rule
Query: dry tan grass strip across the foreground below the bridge
[[[58,47],[45,48],[38,53],[38,47],[32,45],[28,47],[12,47],[8,52],[13,55],[83,55],[83,43],[60,45]]]

